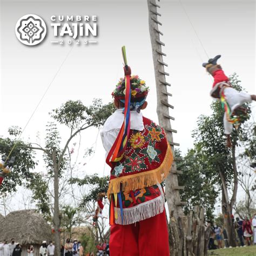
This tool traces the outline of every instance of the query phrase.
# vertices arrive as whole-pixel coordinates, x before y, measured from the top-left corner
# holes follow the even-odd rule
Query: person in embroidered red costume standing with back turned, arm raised
[[[171,170],[172,151],[166,134],[152,120],[143,117],[149,87],[131,76],[125,48],[125,78],[112,92],[117,110],[100,132],[111,167],[110,254],[169,255],[169,234],[163,187]]]

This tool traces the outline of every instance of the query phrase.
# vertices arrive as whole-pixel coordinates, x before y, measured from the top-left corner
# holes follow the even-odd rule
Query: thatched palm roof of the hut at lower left
[[[50,225],[34,210],[11,212],[0,224],[0,239],[8,242],[14,238],[22,245],[36,245],[52,239]]]

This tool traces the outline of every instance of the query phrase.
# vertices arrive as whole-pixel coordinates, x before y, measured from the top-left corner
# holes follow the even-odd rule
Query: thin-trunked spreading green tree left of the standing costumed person
[[[35,166],[35,162],[33,161],[33,150],[43,151],[45,166],[48,170],[48,176],[45,183],[48,184],[50,181],[53,183],[53,193],[51,191],[49,192],[54,199],[52,223],[55,231],[56,252],[58,256],[60,255],[59,181],[63,177],[64,171],[68,168],[68,160],[70,158],[69,144],[73,138],[89,127],[99,128],[102,126],[113,110],[114,107],[112,103],[103,105],[102,100],[100,99],[93,100],[93,103],[90,106],[83,105],[80,100],[69,100],[59,108],[50,112],[53,122],[50,122],[47,125],[44,146],[37,143],[25,144],[19,141],[16,142],[13,155],[16,157],[15,163],[17,169],[16,166],[14,166],[13,173],[10,175],[10,178],[8,177],[7,181],[5,181],[3,187],[4,189],[12,188],[14,190],[17,184],[21,184],[22,179],[26,177],[33,178],[32,173],[29,172],[29,169]],[[59,134],[59,124],[65,125],[69,129],[69,137],[64,141]],[[11,141],[8,138],[5,140],[1,139],[0,150],[2,152],[10,152],[14,144],[15,140]],[[64,147],[61,145],[64,145]],[[39,176],[35,177],[42,178]],[[35,188],[38,185],[38,182],[40,183],[41,180],[36,181],[35,178],[31,179],[33,192],[36,192]],[[37,200],[40,210],[47,213],[49,211],[46,207],[48,195],[45,192],[45,187],[38,187],[38,190],[40,190],[40,192],[34,193],[33,198]],[[40,195],[42,195],[42,197]]]

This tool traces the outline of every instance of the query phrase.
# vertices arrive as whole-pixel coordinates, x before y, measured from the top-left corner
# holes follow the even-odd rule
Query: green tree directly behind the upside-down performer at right
[[[242,90],[240,81],[236,74],[230,77],[232,86],[238,91]],[[250,113],[250,107],[245,104]],[[233,129],[232,148],[226,147],[226,136],[223,127],[224,110],[219,102],[211,104],[213,113],[211,116],[200,116],[198,119],[198,129],[193,132],[196,150],[205,161],[205,177],[214,177],[216,185],[221,188],[221,206],[224,215],[224,222],[227,230],[229,243],[236,246],[235,233],[232,223],[232,209],[237,197],[238,171],[236,149],[239,143],[239,134],[244,130],[242,126]],[[243,120],[244,123],[250,114]]]

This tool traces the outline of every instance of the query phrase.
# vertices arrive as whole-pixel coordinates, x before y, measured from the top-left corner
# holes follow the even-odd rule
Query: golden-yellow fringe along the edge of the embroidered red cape
[[[161,163],[157,169],[110,180],[109,190],[107,190],[107,197],[110,197],[110,194],[112,193],[120,192],[120,184],[122,184],[123,191],[130,191],[161,183],[169,174],[172,161],[172,150],[168,143],[163,163]]]

